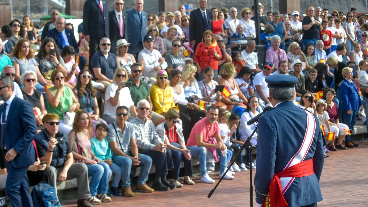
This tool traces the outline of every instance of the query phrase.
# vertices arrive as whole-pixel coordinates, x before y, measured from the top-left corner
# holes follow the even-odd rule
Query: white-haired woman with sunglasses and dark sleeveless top
[[[41,128],[39,126],[43,125],[42,118],[47,114],[47,110],[42,93],[35,90],[35,85],[37,83],[36,73],[31,70],[26,71],[21,76],[21,83],[24,86],[24,88],[21,89],[23,98],[31,103],[33,111],[35,112],[37,130],[42,130],[43,127]]]

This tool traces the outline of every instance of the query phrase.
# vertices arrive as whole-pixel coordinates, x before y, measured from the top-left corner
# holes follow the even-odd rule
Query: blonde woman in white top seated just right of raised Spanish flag
[[[241,106],[247,108],[245,104],[248,103],[248,99],[240,91],[239,85],[236,83],[234,76],[236,75],[235,67],[233,63],[224,63],[221,67],[218,83],[219,85],[225,85],[230,92],[229,97],[222,95],[221,101],[227,105],[227,109],[231,110],[233,106]]]

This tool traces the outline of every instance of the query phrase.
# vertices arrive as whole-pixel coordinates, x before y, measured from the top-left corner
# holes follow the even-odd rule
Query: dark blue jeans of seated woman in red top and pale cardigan
[[[171,142],[170,144],[181,148],[176,142]],[[181,153],[179,150],[171,150],[171,155],[173,157],[174,168],[171,169],[170,178],[176,180],[179,179],[180,164],[182,160],[184,162],[184,176],[192,176],[192,161],[185,159],[183,153]]]

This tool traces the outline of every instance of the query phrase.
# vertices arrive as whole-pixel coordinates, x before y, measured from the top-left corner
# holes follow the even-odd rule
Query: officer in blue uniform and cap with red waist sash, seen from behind
[[[258,120],[257,206],[316,206],[324,161],[318,119],[294,105],[296,77],[276,74],[265,81],[275,108]]]

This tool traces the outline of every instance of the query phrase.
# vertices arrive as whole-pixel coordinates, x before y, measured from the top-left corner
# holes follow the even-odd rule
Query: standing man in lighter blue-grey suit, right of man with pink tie
[[[128,10],[128,53],[138,60],[138,53],[143,50],[143,38],[147,33],[147,13],[143,11],[143,0],[134,0],[134,8]]]

